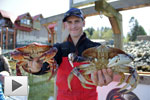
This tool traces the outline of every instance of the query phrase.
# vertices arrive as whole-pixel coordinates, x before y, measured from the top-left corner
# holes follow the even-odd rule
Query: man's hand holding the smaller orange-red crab
[[[28,62],[28,67],[32,73],[39,72],[42,67],[42,61],[40,61],[39,58],[34,58],[32,61]]]

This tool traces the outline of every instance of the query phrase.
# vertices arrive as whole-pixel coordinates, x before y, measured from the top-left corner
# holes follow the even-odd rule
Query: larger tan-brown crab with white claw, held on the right
[[[123,50],[100,45],[92,47],[83,51],[82,56],[77,56],[74,53],[68,55],[70,65],[73,67],[72,71],[68,76],[68,88],[71,90],[70,82],[75,75],[81,82],[84,88],[91,89],[85,84],[96,85],[92,82],[90,75],[94,71],[111,68],[114,73],[118,73],[122,76],[118,86],[126,82],[126,84],[119,90],[122,91],[130,86],[130,89],[126,92],[132,91],[136,88],[139,82],[139,75],[134,66],[129,66],[130,62],[134,61],[134,58],[125,53]],[[74,67],[73,62],[84,62],[80,66]],[[129,73],[127,79],[125,74]]]

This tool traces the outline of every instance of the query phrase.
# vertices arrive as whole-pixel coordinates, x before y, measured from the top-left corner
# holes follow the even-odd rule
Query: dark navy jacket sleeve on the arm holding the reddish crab
[[[61,47],[60,47],[60,44],[57,43],[57,44],[54,45],[54,47],[56,47],[58,49],[58,52],[55,55],[54,59],[56,60],[57,64],[60,65],[60,63],[62,61],[61,60],[62,57],[61,57]],[[48,65],[49,64],[47,62],[44,62],[43,65],[42,65],[41,70],[39,72],[37,72],[37,73],[32,73],[32,74],[34,74],[34,75],[43,75],[43,74],[47,73],[47,71],[50,70],[50,68],[48,67]]]

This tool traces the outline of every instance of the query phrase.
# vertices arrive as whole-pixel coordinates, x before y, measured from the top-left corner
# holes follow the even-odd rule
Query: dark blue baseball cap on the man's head
[[[63,22],[66,22],[67,18],[70,16],[77,16],[84,20],[83,13],[80,9],[78,8],[71,8],[64,14]]]

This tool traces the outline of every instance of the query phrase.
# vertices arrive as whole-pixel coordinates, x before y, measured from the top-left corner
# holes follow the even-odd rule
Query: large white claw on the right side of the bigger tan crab
[[[118,54],[109,60],[108,67],[119,66],[122,64],[127,64],[133,61],[133,58],[127,54]]]

